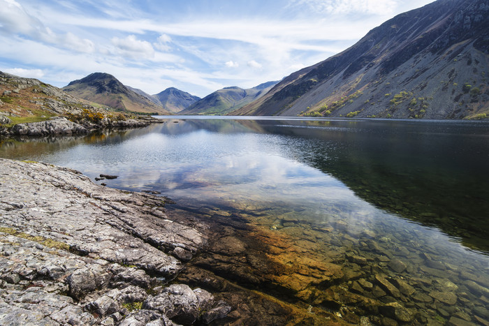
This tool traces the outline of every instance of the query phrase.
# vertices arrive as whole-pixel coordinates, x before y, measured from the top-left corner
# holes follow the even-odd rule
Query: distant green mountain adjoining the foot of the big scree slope
[[[250,89],[226,87],[200,99],[180,114],[225,115],[265,95],[277,82],[265,82]]]

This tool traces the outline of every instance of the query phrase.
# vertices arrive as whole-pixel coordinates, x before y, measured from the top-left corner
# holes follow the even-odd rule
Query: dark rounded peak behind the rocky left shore
[[[92,73],[81,80],[74,80],[62,88],[66,93],[87,101],[107,105],[128,112],[169,114],[161,105],[154,103],[140,90],[134,91],[108,73]],[[147,95],[147,94],[146,94]]]

